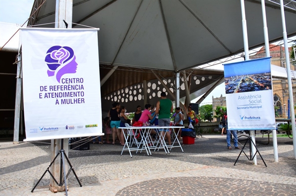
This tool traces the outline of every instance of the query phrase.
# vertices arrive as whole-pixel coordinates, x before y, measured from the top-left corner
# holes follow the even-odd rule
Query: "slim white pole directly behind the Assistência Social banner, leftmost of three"
[[[247,20],[246,20],[246,13],[245,13],[245,2],[244,0],[241,0],[241,12],[242,12],[242,25],[243,25],[243,39],[244,39],[244,48],[245,48],[245,60],[249,60],[249,44],[248,44],[248,33],[247,33]],[[250,130],[250,136],[253,143],[256,145],[255,141],[255,130]],[[255,145],[253,145],[251,142],[251,148],[252,148],[252,157],[253,158],[253,164],[257,165],[257,156]],[[254,156],[255,155],[255,156]]]

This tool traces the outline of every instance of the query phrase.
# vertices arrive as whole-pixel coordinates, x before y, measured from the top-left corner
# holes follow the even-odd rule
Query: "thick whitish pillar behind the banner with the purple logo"
[[[73,12],[73,0],[56,0],[56,10],[55,10],[55,28],[66,28],[66,24],[63,20],[65,20],[68,24],[68,28],[72,28],[72,12]],[[51,140],[51,160],[58,154],[61,150],[61,139]],[[69,153],[69,144],[68,138],[64,139],[63,149],[68,157]],[[68,164],[66,164],[66,169],[68,169]],[[61,158],[56,158],[54,163],[50,167],[50,171],[52,172],[55,179],[60,179],[60,170],[61,170]],[[66,184],[66,183],[65,183]],[[52,177],[50,177],[50,185],[49,190],[53,193],[66,191],[67,188],[65,186],[59,187]],[[67,194],[67,191],[66,191]]]

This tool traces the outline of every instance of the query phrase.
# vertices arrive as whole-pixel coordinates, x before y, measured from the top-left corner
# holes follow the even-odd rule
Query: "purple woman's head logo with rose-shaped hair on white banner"
[[[75,74],[77,63],[74,51],[68,46],[55,45],[46,52],[45,62],[48,66],[48,77],[55,76],[60,82],[65,74]]]

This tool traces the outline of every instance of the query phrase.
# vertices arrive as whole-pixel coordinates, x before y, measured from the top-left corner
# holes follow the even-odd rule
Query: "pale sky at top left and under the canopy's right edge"
[[[0,22],[15,23],[20,25],[24,24],[26,20],[30,17],[33,2],[34,0],[0,0]],[[225,96],[224,83],[217,86],[203,100],[201,105],[212,104],[212,96],[214,96],[214,98],[217,98],[220,97],[221,94],[222,96]],[[191,103],[195,103],[200,97],[191,100]]]

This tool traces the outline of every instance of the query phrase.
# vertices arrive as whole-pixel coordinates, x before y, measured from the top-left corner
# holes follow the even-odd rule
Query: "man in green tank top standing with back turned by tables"
[[[170,99],[166,98],[166,93],[160,93],[160,98],[156,104],[155,113],[158,114],[158,125],[159,126],[170,126],[170,115],[173,112],[173,103]],[[166,136],[169,145],[171,145],[171,135],[169,129],[163,129],[161,131],[162,136]]]

